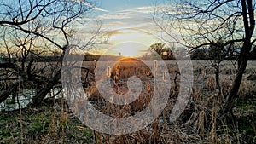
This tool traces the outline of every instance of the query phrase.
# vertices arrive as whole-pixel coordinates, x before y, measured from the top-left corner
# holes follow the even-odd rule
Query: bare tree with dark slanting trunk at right
[[[160,11],[169,24],[161,26],[163,30],[177,40],[177,43],[189,49],[212,46],[225,49],[225,53],[230,54],[232,46],[241,43],[236,76],[221,106],[220,116],[231,113],[250,50],[256,41],[253,35],[255,4],[253,0],[180,0],[172,2],[173,7]],[[182,39],[174,37],[171,32],[173,30],[179,30]],[[221,43],[218,42],[219,39]],[[215,60],[217,69],[219,62],[226,60],[229,55],[222,56],[224,57]]]

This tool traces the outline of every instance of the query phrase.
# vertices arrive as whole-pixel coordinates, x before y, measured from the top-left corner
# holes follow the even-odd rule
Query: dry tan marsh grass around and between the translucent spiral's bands
[[[23,125],[23,129],[19,127],[19,129],[14,131],[19,135],[23,135],[24,143],[247,143],[246,135],[241,132],[240,121],[236,121],[234,124],[218,122],[217,112],[223,100],[217,95],[218,91],[216,91],[214,69],[210,67],[205,68],[208,64],[207,61],[194,61],[195,84],[193,93],[185,111],[174,123],[170,122],[169,116],[177,99],[180,78],[177,73],[178,66],[176,61],[166,61],[166,65],[169,67],[170,80],[172,81],[172,89],[170,89],[171,95],[160,116],[143,130],[127,135],[107,135],[95,130],[90,130],[72,116],[63,99],[61,99],[62,101],[60,102],[55,101],[56,104],[54,107],[44,107],[43,110],[39,110],[43,112],[38,112],[38,110],[32,110],[35,112],[22,111],[21,114],[23,118],[20,126]],[[89,101],[98,111],[112,117],[125,118],[134,115],[136,112],[141,112],[148,106],[154,92],[154,74],[149,72],[147,76],[148,70],[152,67],[147,67],[141,63],[123,61],[113,66],[111,71],[112,78],[116,75],[118,65],[120,65],[118,74],[119,94],[123,95],[127,92],[128,88],[126,82],[131,76],[136,75],[143,81],[143,91],[136,101],[125,106],[118,106],[106,101],[99,93],[98,89],[96,89],[93,74],[89,75],[90,87],[84,88],[84,90],[87,94],[90,94]],[[94,62],[84,62],[83,66],[89,67],[90,72],[94,72]],[[245,73],[245,77],[241,83],[241,89],[239,90],[241,98],[245,99],[246,96],[255,97],[256,95],[255,82],[247,80],[247,76],[253,74],[255,69],[256,67],[252,66],[252,63],[248,64],[247,72]],[[220,72],[220,83],[223,88],[223,93],[227,95],[236,69],[232,68],[232,65],[229,63],[225,63],[225,65],[221,67]],[[148,89],[148,82],[150,89]],[[115,84],[113,79],[113,89],[114,88]],[[77,102],[79,105],[79,101]],[[240,117],[242,114],[241,110],[238,108],[235,108],[235,110],[236,116]],[[249,112],[249,110],[242,112],[253,113]],[[39,113],[39,115],[35,115],[35,113]],[[255,114],[255,112],[253,114]],[[8,116],[8,112],[3,115],[10,117]],[[27,127],[32,127],[30,126],[32,118],[27,118],[29,115],[33,115],[34,118],[38,118],[43,122],[41,126],[40,124],[33,125],[36,129],[40,130],[26,129]],[[248,115],[246,115],[247,118],[249,118]],[[31,122],[28,121],[28,119],[31,120]],[[2,126],[3,121],[1,121],[0,124]],[[4,124],[15,125],[19,123],[17,121],[15,124],[10,122],[4,122]],[[42,125],[44,125],[44,128],[42,128]],[[9,130],[9,128],[6,128],[6,130]],[[255,131],[254,125],[254,132]],[[20,143],[21,140],[17,137],[17,134],[15,134],[15,136],[9,135],[9,140],[0,138],[0,143],[2,141],[3,143]],[[252,142],[251,139],[249,142]]]

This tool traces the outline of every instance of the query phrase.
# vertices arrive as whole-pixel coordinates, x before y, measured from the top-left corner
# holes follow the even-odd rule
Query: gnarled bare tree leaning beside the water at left
[[[1,49],[5,61],[0,63],[4,75],[11,75],[0,102],[18,85],[35,85],[33,103],[44,99],[61,79],[61,59],[75,33],[74,26],[88,14],[95,2],[75,0],[15,0],[0,2]],[[56,61],[46,59],[55,51]],[[36,63],[41,61],[44,63]],[[45,63],[46,62],[46,63]],[[16,76],[14,78],[14,76]],[[14,79],[12,79],[14,78]]]

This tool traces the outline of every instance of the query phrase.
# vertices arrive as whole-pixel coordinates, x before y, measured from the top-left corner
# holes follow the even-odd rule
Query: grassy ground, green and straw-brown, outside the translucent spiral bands
[[[230,119],[228,124],[219,123],[216,118],[221,101],[216,96],[214,70],[204,68],[203,66],[207,65],[204,61],[201,63],[203,65],[197,64],[195,66],[194,64],[195,84],[193,93],[185,111],[174,123],[170,123],[168,116],[172,112],[173,102],[177,96],[175,87],[172,87],[174,91],[171,93],[170,101],[160,117],[143,130],[129,135],[107,135],[91,130],[82,124],[68,109],[64,100],[59,98],[58,101],[44,100],[42,106],[28,106],[21,111],[19,109],[10,112],[0,111],[0,143],[21,143],[21,141],[23,143],[255,143],[256,84],[253,77],[256,68],[253,61],[250,61],[247,66],[238,93],[239,97],[233,108],[234,118]],[[175,62],[166,62],[166,64],[168,67],[172,67],[169,70],[170,73],[175,72],[174,67],[177,68]],[[137,67],[133,64],[131,66]],[[140,73],[140,71],[143,71],[143,67],[135,71],[132,67],[121,66],[119,86],[126,87],[124,79],[129,78],[132,73]],[[232,78],[233,73],[234,70],[230,69],[227,64],[221,68],[221,84],[224,87],[224,93],[230,88],[230,78]],[[149,73],[149,78],[151,78],[151,74]],[[171,75],[172,78],[174,76]],[[122,77],[124,79],[121,79]],[[146,76],[141,78],[147,79]],[[150,90],[154,89],[143,90],[143,94],[150,94]],[[98,110],[105,112],[104,109],[106,110],[108,106],[111,106],[99,96],[93,85],[91,85],[90,92],[89,100]],[[126,116],[131,116],[133,112],[139,112],[145,107],[145,103],[148,102],[147,96],[141,95],[139,99],[144,102],[134,101],[131,103],[130,107],[132,108],[125,112]],[[111,107],[118,110],[122,109],[116,106]],[[116,116],[119,112],[105,113]]]

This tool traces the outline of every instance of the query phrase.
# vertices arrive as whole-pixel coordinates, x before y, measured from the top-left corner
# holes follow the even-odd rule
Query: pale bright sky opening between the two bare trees
[[[162,41],[163,32],[156,26],[153,13],[160,0],[97,0],[93,13],[96,18],[79,32],[92,32],[101,21],[101,34],[107,44],[90,53],[136,57],[149,52],[150,45]],[[164,42],[163,42],[164,43]],[[137,46],[136,46],[137,45]]]

